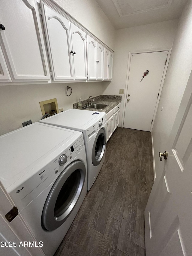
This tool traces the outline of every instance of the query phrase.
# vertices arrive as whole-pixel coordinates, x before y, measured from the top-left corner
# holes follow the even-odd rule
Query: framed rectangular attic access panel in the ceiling
[[[173,0],[112,0],[120,17],[169,7]]]

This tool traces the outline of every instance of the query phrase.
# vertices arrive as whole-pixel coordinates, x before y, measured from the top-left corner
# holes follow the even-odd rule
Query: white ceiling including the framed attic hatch
[[[178,19],[187,0],[96,0],[115,29]]]

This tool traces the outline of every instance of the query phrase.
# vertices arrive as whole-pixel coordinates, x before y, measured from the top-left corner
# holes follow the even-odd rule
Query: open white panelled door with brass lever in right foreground
[[[192,255],[192,74],[145,209],[146,256]],[[160,170],[159,170],[160,171]]]

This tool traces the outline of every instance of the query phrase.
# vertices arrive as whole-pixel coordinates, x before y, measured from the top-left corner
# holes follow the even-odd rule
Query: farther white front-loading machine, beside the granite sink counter
[[[87,156],[87,189],[89,190],[105,160],[107,136],[106,113],[68,109],[39,122],[81,131],[83,133]]]

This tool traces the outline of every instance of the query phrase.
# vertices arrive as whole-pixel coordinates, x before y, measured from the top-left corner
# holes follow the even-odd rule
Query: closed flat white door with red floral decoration
[[[167,54],[168,51],[131,55],[123,127],[150,131]],[[149,73],[143,78],[147,70]]]

